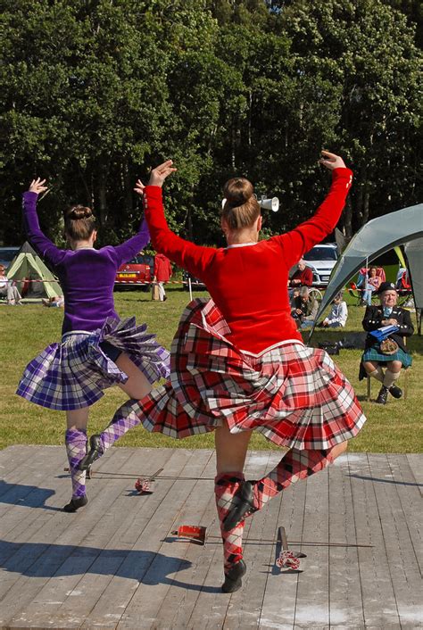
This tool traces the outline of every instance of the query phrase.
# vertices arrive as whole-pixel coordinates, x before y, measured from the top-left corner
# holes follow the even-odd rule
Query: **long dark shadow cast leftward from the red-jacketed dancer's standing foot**
[[[117,576],[140,584],[171,584],[190,591],[220,593],[219,586],[189,584],[172,574],[192,563],[154,551],[98,549],[71,544],[12,543],[0,540],[0,568],[27,577]]]

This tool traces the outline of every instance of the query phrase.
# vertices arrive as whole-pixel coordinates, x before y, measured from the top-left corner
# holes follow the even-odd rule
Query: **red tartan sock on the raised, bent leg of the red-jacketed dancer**
[[[323,470],[333,461],[328,451],[286,452],[278,466],[266,477],[262,477],[253,485],[253,503],[256,510],[266,505],[270,499],[300,479],[305,479]]]

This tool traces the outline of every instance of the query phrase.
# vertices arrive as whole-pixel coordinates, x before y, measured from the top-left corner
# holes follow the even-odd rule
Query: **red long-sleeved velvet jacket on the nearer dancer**
[[[351,183],[351,170],[334,170],[328,195],[311,219],[253,245],[215,249],[180,238],[164,217],[160,187],[145,187],[145,219],[154,249],[205,283],[228,322],[228,340],[257,354],[288,339],[302,340],[291,317],[289,269],[334,230]]]

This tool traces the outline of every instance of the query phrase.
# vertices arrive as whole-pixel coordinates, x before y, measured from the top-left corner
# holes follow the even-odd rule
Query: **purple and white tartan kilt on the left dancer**
[[[94,332],[76,331],[47,346],[24,370],[16,394],[61,411],[94,404],[104,389],[128,380],[100,348],[104,341],[128,354],[150,383],[169,377],[170,353],[146,333],[146,324],[109,318]]]

